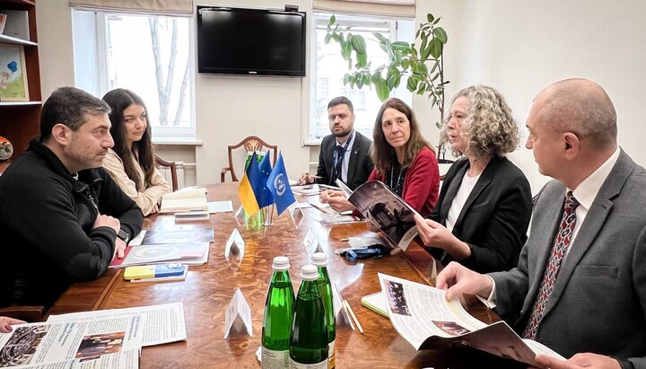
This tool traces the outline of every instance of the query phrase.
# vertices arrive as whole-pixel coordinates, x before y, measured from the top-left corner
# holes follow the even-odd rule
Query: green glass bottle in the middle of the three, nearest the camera
[[[303,266],[301,279],[290,338],[290,369],[327,369],[327,321],[317,285],[319,269]]]

